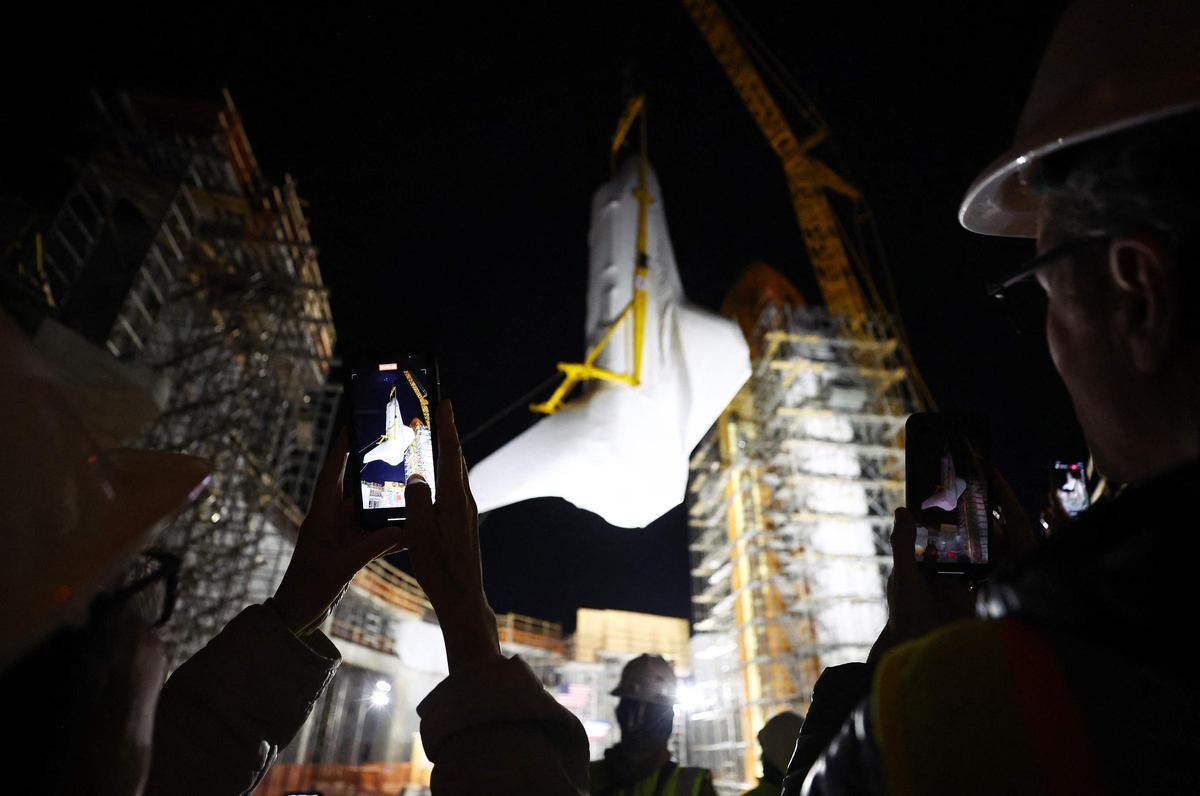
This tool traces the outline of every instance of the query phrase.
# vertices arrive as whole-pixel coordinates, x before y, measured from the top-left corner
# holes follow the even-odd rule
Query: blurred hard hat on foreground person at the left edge
[[[73,401],[0,312],[0,671],[83,622],[158,523],[208,483],[203,459],[103,442],[92,405]]]

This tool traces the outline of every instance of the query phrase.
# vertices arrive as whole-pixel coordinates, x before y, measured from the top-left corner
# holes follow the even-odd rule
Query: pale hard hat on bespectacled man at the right
[[[1200,2],[1079,0],[1046,46],[1012,149],[967,190],[971,232],[1037,234],[1039,199],[1025,176],[1066,146],[1200,107]]]

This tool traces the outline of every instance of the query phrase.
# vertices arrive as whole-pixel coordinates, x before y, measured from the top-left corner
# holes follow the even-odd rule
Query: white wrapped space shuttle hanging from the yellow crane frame
[[[637,170],[630,158],[592,201],[589,348],[634,294]],[[689,454],[750,377],[737,324],[688,304],[653,172],[649,181],[641,385],[590,382],[582,397],[479,462],[470,485],[480,511],[557,496],[612,525],[644,527],[683,502]],[[632,333],[630,317],[596,364],[631,372]]]

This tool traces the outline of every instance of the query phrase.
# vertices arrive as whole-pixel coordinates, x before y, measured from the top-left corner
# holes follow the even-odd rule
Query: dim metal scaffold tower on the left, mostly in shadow
[[[157,543],[184,558],[163,629],[178,664],[282,576],[337,402],[335,331],[295,184],[263,176],[228,94],[94,98],[103,142],[20,276],[152,372],[162,413],[139,444],[212,462]]]

